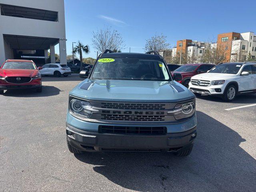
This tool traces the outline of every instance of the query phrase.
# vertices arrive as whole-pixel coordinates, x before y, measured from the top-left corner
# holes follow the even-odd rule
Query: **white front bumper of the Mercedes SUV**
[[[225,84],[210,85],[210,86],[196,86],[196,85],[192,85],[191,82],[189,82],[188,89],[193,93],[221,96],[222,94],[224,94],[225,86],[226,86]]]

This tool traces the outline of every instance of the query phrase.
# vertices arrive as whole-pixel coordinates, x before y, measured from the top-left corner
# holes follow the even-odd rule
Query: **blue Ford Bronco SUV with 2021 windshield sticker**
[[[195,96],[172,79],[156,51],[106,50],[90,75],[83,70],[80,77],[86,80],[71,90],[66,118],[70,152],[190,154],[196,138]]]

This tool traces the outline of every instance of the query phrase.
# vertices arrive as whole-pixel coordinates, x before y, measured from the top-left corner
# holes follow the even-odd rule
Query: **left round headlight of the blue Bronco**
[[[92,112],[98,111],[99,110],[92,108],[92,105],[86,101],[72,99],[69,103],[69,112],[76,118],[90,118]]]

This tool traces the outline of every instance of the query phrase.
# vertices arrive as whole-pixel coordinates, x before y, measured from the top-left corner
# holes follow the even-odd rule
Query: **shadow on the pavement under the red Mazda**
[[[8,97],[48,97],[60,94],[61,90],[54,86],[42,86],[42,92],[35,89],[6,90],[3,96]]]

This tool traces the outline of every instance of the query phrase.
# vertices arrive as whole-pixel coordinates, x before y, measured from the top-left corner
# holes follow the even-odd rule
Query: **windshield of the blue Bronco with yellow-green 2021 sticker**
[[[102,58],[96,62],[91,78],[123,80],[169,80],[163,62],[139,58]]]

